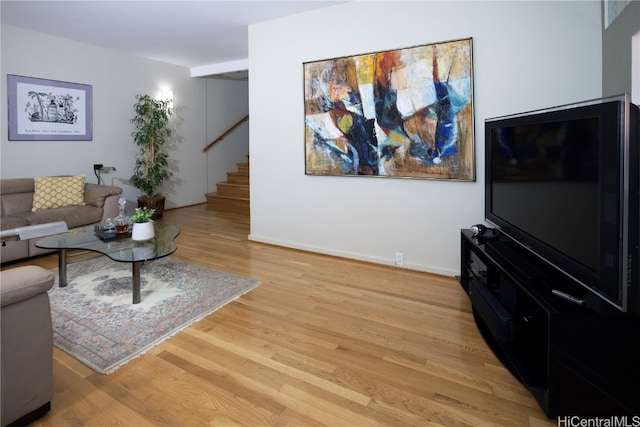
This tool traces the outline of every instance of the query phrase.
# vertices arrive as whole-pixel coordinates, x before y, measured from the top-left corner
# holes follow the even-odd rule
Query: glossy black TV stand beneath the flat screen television
[[[478,330],[549,418],[640,415],[640,317],[594,309],[589,292],[506,237],[461,233],[460,285]]]

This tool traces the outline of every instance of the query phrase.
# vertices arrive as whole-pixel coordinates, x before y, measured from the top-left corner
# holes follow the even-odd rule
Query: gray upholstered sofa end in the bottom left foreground
[[[47,291],[54,277],[34,265],[0,272],[2,427],[26,425],[51,408],[53,330]]]

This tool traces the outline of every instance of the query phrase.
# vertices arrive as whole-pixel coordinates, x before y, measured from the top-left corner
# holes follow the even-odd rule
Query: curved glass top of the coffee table
[[[166,222],[156,221],[154,227],[155,237],[147,242],[136,242],[130,236],[102,240],[96,235],[95,226],[90,225],[38,240],[36,246],[43,249],[93,251],[118,262],[151,261],[174,253],[174,239],[180,234],[178,227]]]

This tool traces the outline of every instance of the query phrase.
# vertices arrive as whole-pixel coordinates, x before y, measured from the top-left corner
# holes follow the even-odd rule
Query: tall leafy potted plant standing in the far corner
[[[165,197],[159,191],[172,176],[167,153],[167,141],[171,137],[170,101],[138,94],[133,108],[136,114],[131,123],[135,130],[131,136],[140,151],[129,182],[143,193],[138,198],[138,206],[152,208],[155,211],[154,219],[159,219],[162,218],[165,202]]]

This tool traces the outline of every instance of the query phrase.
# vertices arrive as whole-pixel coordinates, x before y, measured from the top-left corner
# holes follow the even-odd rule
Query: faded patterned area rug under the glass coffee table
[[[49,291],[53,342],[109,374],[260,284],[247,277],[163,258],[142,265],[142,301],[132,304],[131,265],[103,257],[67,267]]]

